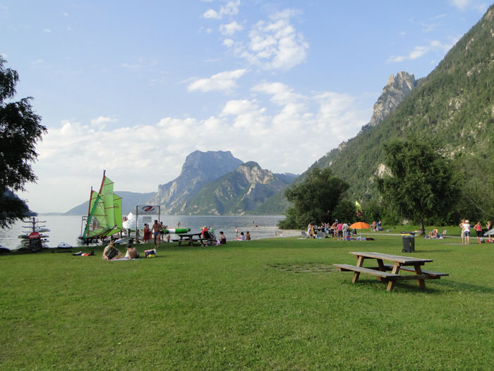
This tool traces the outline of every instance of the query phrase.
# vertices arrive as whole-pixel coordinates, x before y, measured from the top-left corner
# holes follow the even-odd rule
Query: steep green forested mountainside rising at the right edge
[[[383,145],[414,135],[433,141],[451,158],[464,176],[464,195],[481,202],[479,196],[492,194],[485,187],[492,181],[488,175],[493,174],[494,159],[493,50],[494,6],[490,6],[387,117],[379,122],[380,110],[375,110],[373,124],[363,126],[356,137],[313,166],[330,166],[337,177],[349,182],[352,199],[373,199],[377,196],[373,180],[384,170]]]

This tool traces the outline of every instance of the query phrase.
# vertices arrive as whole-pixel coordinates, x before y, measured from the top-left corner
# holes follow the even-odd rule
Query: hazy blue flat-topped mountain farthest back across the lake
[[[230,151],[194,151],[187,156],[179,177],[160,184],[148,204],[161,205],[164,214],[183,214],[188,201],[207,184],[235,170],[243,161]]]

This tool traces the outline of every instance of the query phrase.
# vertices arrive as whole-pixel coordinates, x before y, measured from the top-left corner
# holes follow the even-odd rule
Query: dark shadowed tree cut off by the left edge
[[[12,102],[16,95],[18,73],[4,67],[0,57],[0,225],[8,227],[26,216],[29,208],[13,192],[25,190],[37,177],[30,163],[36,160],[35,144],[47,128],[30,105],[32,98]]]

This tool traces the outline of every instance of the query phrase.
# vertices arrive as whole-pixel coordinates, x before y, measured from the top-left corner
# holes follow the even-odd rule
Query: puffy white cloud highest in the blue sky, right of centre
[[[291,69],[307,58],[308,43],[290,23],[295,11],[282,11],[259,21],[249,33],[250,41],[238,54],[263,69]]]

